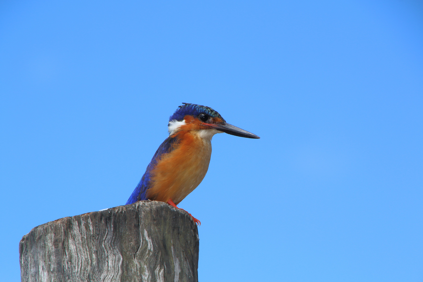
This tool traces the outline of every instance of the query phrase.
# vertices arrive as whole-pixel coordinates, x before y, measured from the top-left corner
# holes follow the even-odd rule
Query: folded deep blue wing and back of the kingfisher
[[[128,201],[126,201],[125,205],[129,205],[141,200],[148,200],[146,193],[147,193],[147,189],[149,188],[148,184],[150,182],[150,172],[159,161],[160,156],[162,156],[162,154],[167,154],[173,151],[173,149],[175,148],[174,145],[177,142],[178,142],[178,137],[176,136],[173,136],[173,137],[169,136],[168,138],[166,138],[165,141],[163,141],[162,145],[159,146],[156,153],[154,154],[153,159],[151,159],[150,164],[148,164],[146,172],[141,178],[140,183],[138,183],[137,187],[135,188],[134,192],[132,192],[131,196],[129,197]]]

